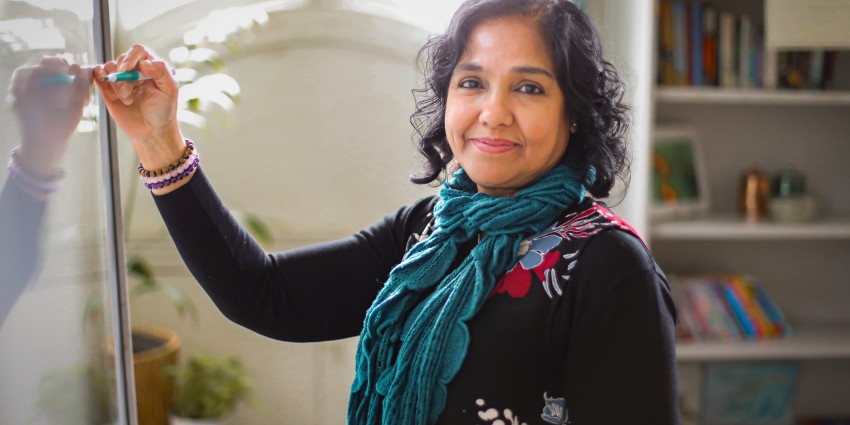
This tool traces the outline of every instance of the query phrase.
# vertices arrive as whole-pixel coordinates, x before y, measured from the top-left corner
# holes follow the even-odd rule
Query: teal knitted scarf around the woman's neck
[[[463,170],[440,190],[433,233],[414,245],[366,313],[349,424],[433,424],[469,345],[466,322],[514,266],[520,241],[584,197],[581,176],[559,165],[511,197],[476,193]],[[458,245],[486,236],[455,270]]]

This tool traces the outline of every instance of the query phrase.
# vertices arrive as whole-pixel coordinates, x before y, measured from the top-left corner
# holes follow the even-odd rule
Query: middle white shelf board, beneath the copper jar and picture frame
[[[850,217],[808,223],[747,222],[739,216],[654,223],[652,240],[850,240]]]

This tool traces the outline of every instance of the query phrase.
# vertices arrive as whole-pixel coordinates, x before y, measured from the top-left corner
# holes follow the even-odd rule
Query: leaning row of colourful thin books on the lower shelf
[[[792,327],[751,276],[670,276],[682,341],[744,341],[785,337]]]

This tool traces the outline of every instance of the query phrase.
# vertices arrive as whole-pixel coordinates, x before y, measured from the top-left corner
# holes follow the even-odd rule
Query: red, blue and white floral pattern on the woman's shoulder
[[[575,268],[580,251],[563,253],[556,248],[563,241],[590,238],[613,227],[640,238],[634,228],[597,202],[584,211],[565,215],[548,229],[520,243],[519,261],[499,278],[490,296],[506,293],[512,298],[523,298],[531,289],[533,276],[549,298],[562,295],[560,280],[570,279],[569,273]],[[558,270],[566,270],[566,273],[558,275],[555,265],[561,261],[566,262],[566,267],[558,267]]]

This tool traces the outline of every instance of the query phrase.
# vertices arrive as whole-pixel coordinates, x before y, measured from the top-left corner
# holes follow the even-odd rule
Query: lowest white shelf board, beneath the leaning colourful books
[[[850,325],[798,328],[782,339],[677,342],[679,361],[850,359]]]

